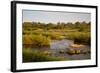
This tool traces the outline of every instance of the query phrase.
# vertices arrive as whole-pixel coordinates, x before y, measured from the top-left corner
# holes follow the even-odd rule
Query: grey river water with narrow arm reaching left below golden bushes
[[[70,45],[74,44],[73,40],[53,40],[50,43],[50,47],[43,47],[43,48],[36,48],[41,52],[49,52],[49,56],[51,57],[63,57],[68,60],[86,60],[91,59],[91,48],[88,45],[83,45],[83,47],[80,47],[78,49],[82,49],[82,52],[79,54],[73,54],[70,55],[67,53],[68,49],[70,48]]]

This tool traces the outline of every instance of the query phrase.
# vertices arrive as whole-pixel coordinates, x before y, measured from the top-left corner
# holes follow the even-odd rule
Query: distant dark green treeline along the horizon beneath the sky
[[[79,29],[79,31],[90,30],[91,22],[58,22],[58,23],[41,23],[41,22],[24,22],[23,27],[26,30],[30,30],[30,28],[37,29]],[[28,29],[29,28],[29,29]]]

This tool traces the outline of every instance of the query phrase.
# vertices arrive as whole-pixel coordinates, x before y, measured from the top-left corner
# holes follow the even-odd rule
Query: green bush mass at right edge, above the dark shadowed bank
[[[77,44],[91,45],[90,32],[74,32],[66,36],[66,39],[74,40]]]

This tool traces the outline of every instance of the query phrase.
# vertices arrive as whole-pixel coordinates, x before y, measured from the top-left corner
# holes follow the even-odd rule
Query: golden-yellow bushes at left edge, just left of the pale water
[[[23,45],[31,44],[33,47],[50,46],[50,38],[43,35],[23,35]]]

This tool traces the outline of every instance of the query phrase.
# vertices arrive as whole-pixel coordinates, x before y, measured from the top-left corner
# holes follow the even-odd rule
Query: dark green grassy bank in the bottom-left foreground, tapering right
[[[38,50],[23,49],[23,62],[64,61],[61,57],[51,57]]]

